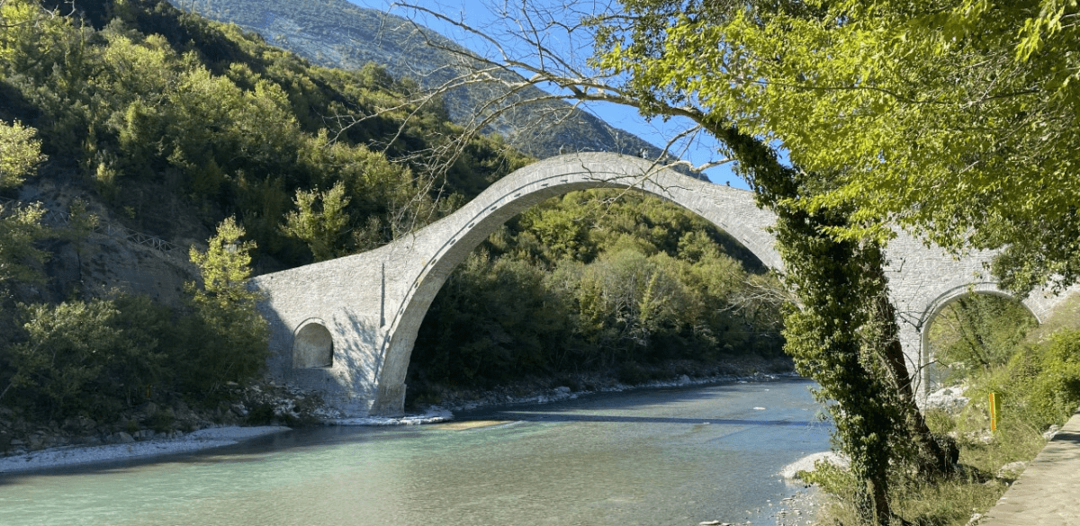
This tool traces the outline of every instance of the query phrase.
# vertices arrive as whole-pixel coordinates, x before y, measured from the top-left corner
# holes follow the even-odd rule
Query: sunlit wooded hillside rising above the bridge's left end
[[[407,83],[377,66],[311,66],[164,1],[95,4],[90,25],[29,1],[3,10],[0,71],[37,115],[41,150],[77,162],[138,221],[170,224],[164,211],[189,200],[206,226],[235,214],[262,253],[302,264],[311,258],[280,229],[297,192],[342,188],[334,223],[352,235],[322,236],[323,259],[422,226],[528,162],[483,137],[436,169],[431,155],[458,128],[441,109],[404,103]]]

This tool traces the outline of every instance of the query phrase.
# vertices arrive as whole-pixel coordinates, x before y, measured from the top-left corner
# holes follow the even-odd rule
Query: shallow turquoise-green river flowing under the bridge
[[[802,379],[319,427],[149,461],[0,475],[3,525],[773,524],[828,449]]]

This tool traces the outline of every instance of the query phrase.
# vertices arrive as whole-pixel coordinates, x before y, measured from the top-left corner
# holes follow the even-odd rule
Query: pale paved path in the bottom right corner
[[[978,526],[1080,526],[1080,411]]]

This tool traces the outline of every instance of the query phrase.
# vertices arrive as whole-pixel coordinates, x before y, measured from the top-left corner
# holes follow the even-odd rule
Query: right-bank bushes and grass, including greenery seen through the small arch
[[[1080,295],[1067,300],[1042,326],[1020,304],[974,294],[948,305],[931,327],[939,385],[962,391],[959,404],[931,406],[930,428],[956,440],[955,475],[926,480],[893,469],[893,512],[908,524],[967,525],[991,508],[1080,404]],[[990,432],[989,393],[1001,400]],[[802,477],[829,495],[821,524],[858,524],[858,482],[851,473],[819,466]]]

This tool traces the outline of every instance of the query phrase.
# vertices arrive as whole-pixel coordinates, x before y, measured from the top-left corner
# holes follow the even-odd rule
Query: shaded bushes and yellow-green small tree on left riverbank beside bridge
[[[230,218],[205,252],[192,250],[203,287],[188,283],[186,312],[126,294],[23,305],[22,333],[0,341],[0,403],[110,421],[162,392],[210,403],[226,382],[260,373],[267,324],[246,287],[254,244],[241,236]]]

